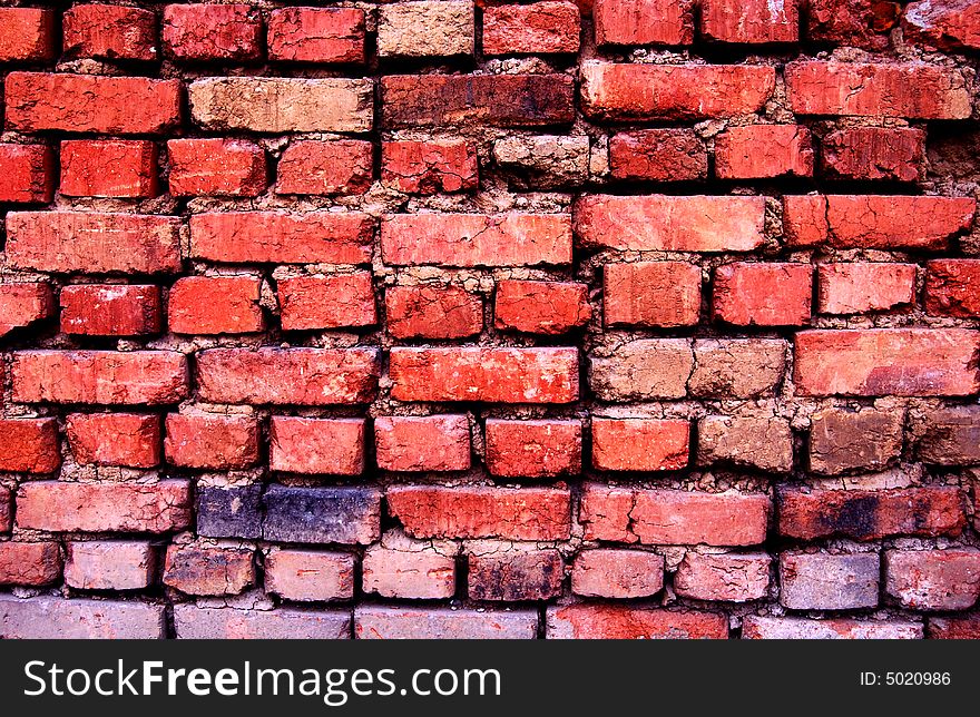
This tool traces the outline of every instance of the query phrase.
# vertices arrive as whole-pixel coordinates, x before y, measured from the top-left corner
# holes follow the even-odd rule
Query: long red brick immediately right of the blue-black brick
[[[388,509],[415,538],[566,540],[568,490],[482,485],[392,485]]]

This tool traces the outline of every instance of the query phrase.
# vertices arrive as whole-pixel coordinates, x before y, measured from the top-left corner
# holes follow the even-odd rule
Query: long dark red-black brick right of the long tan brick
[[[543,127],[575,119],[568,75],[390,75],[381,79],[381,97],[389,128]]]

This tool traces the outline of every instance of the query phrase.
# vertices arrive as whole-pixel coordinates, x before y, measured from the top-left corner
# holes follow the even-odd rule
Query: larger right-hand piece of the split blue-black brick
[[[376,488],[270,485],[263,538],[273,542],[370,544],[381,536]]]

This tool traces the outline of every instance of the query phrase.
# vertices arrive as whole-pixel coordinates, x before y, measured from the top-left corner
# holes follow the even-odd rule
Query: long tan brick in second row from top
[[[370,79],[212,77],[187,96],[190,117],[209,130],[365,132],[374,121]]]

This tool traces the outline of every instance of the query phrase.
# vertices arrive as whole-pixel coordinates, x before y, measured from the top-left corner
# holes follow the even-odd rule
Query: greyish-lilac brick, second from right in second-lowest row
[[[850,610],[878,606],[876,552],[780,556],[780,602],[791,610]]]

